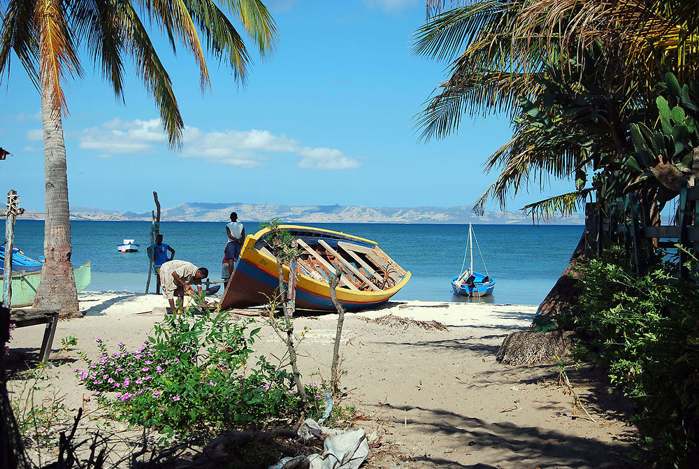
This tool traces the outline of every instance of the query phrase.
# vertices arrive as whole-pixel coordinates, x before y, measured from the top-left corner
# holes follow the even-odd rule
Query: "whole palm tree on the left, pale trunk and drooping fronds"
[[[62,117],[67,113],[62,82],[82,77],[82,46],[117,97],[123,99],[123,59],[136,64],[160,110],[171,146],[178,147],[184,123],[166,69],[153,47],[142,18],[164,31],[173,50],[184,45],[194,56],[201,87],[209,85],[202,43],[245,82],[250,55],[243,38],[224,13],[236,17],[262,57],[277,39],[275,24],[260,0],[8,0],[2,2],[0,74],[14,52],[41,90],[45,159],[45,263],[34,305],[80,316],[71,264],[66,148]],[[201,41],[200,36],[206,41]]]

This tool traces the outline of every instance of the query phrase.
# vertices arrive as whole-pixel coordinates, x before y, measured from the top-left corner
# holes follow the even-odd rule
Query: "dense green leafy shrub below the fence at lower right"
[[[657,261],[635,275],[621,247],[590,261],[577,326],[610,378],[640,409],[640,446],[658,467],[696,467],[699,447],[699,291]]]

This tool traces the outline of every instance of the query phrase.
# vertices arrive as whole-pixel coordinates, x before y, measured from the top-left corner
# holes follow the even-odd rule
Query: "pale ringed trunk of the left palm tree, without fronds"
[[[71,263],[71,222],[63,122],[55,79],[42,63],[41,120],[44,138],[45,206],[44,257],[34,307],[57,310],[62,317],[82,317]]]

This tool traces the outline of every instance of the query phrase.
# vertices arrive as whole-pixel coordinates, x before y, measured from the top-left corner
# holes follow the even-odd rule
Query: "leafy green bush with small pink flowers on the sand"
[[[124,342],[95,361],[82,354],[85,368],[75,373],[108,403],[115,417],[152,426],[168,435],[210,426],[268,426],[297,419],[303,401],[292,391],[292,376],[261,356],[248,369],[250,348],[260,328],[231,324],[219,312],[168,315],[143,345],[128,351]],[[322,410],[322,396],[308,389],[311,413]]]

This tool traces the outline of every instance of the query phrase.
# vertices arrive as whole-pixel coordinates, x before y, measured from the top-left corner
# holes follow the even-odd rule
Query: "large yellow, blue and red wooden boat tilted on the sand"
[[[335,310],[329,274],[334,274],[337,266],[343,269],[336,289],[338,301],[349,311],[384,303],[410,280],[410,272],[398,266],[374,241],[309,226],[281,225],[280,229],[291,233],[304,251],[296,263],[298,309]],[[264,238],[269,231],[262,229],[245,238],[236,270],[221,298],[222,309],[264,305],[274,296],[279,270]],[[287,266],[284,279],[289,280]]]

